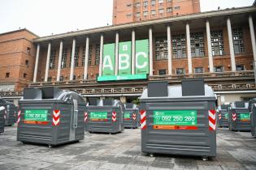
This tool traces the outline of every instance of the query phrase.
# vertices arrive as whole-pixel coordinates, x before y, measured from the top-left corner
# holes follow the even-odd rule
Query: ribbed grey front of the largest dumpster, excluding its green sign
[[[141,130],[141,150],[145,153],[170,155],[216,155],[216,133],[209,130],[208,110],[215,109],[215,101],[141,100],[146,111],[146,129]],[[154,110],[197,110],[197,130],[155,130]]]

